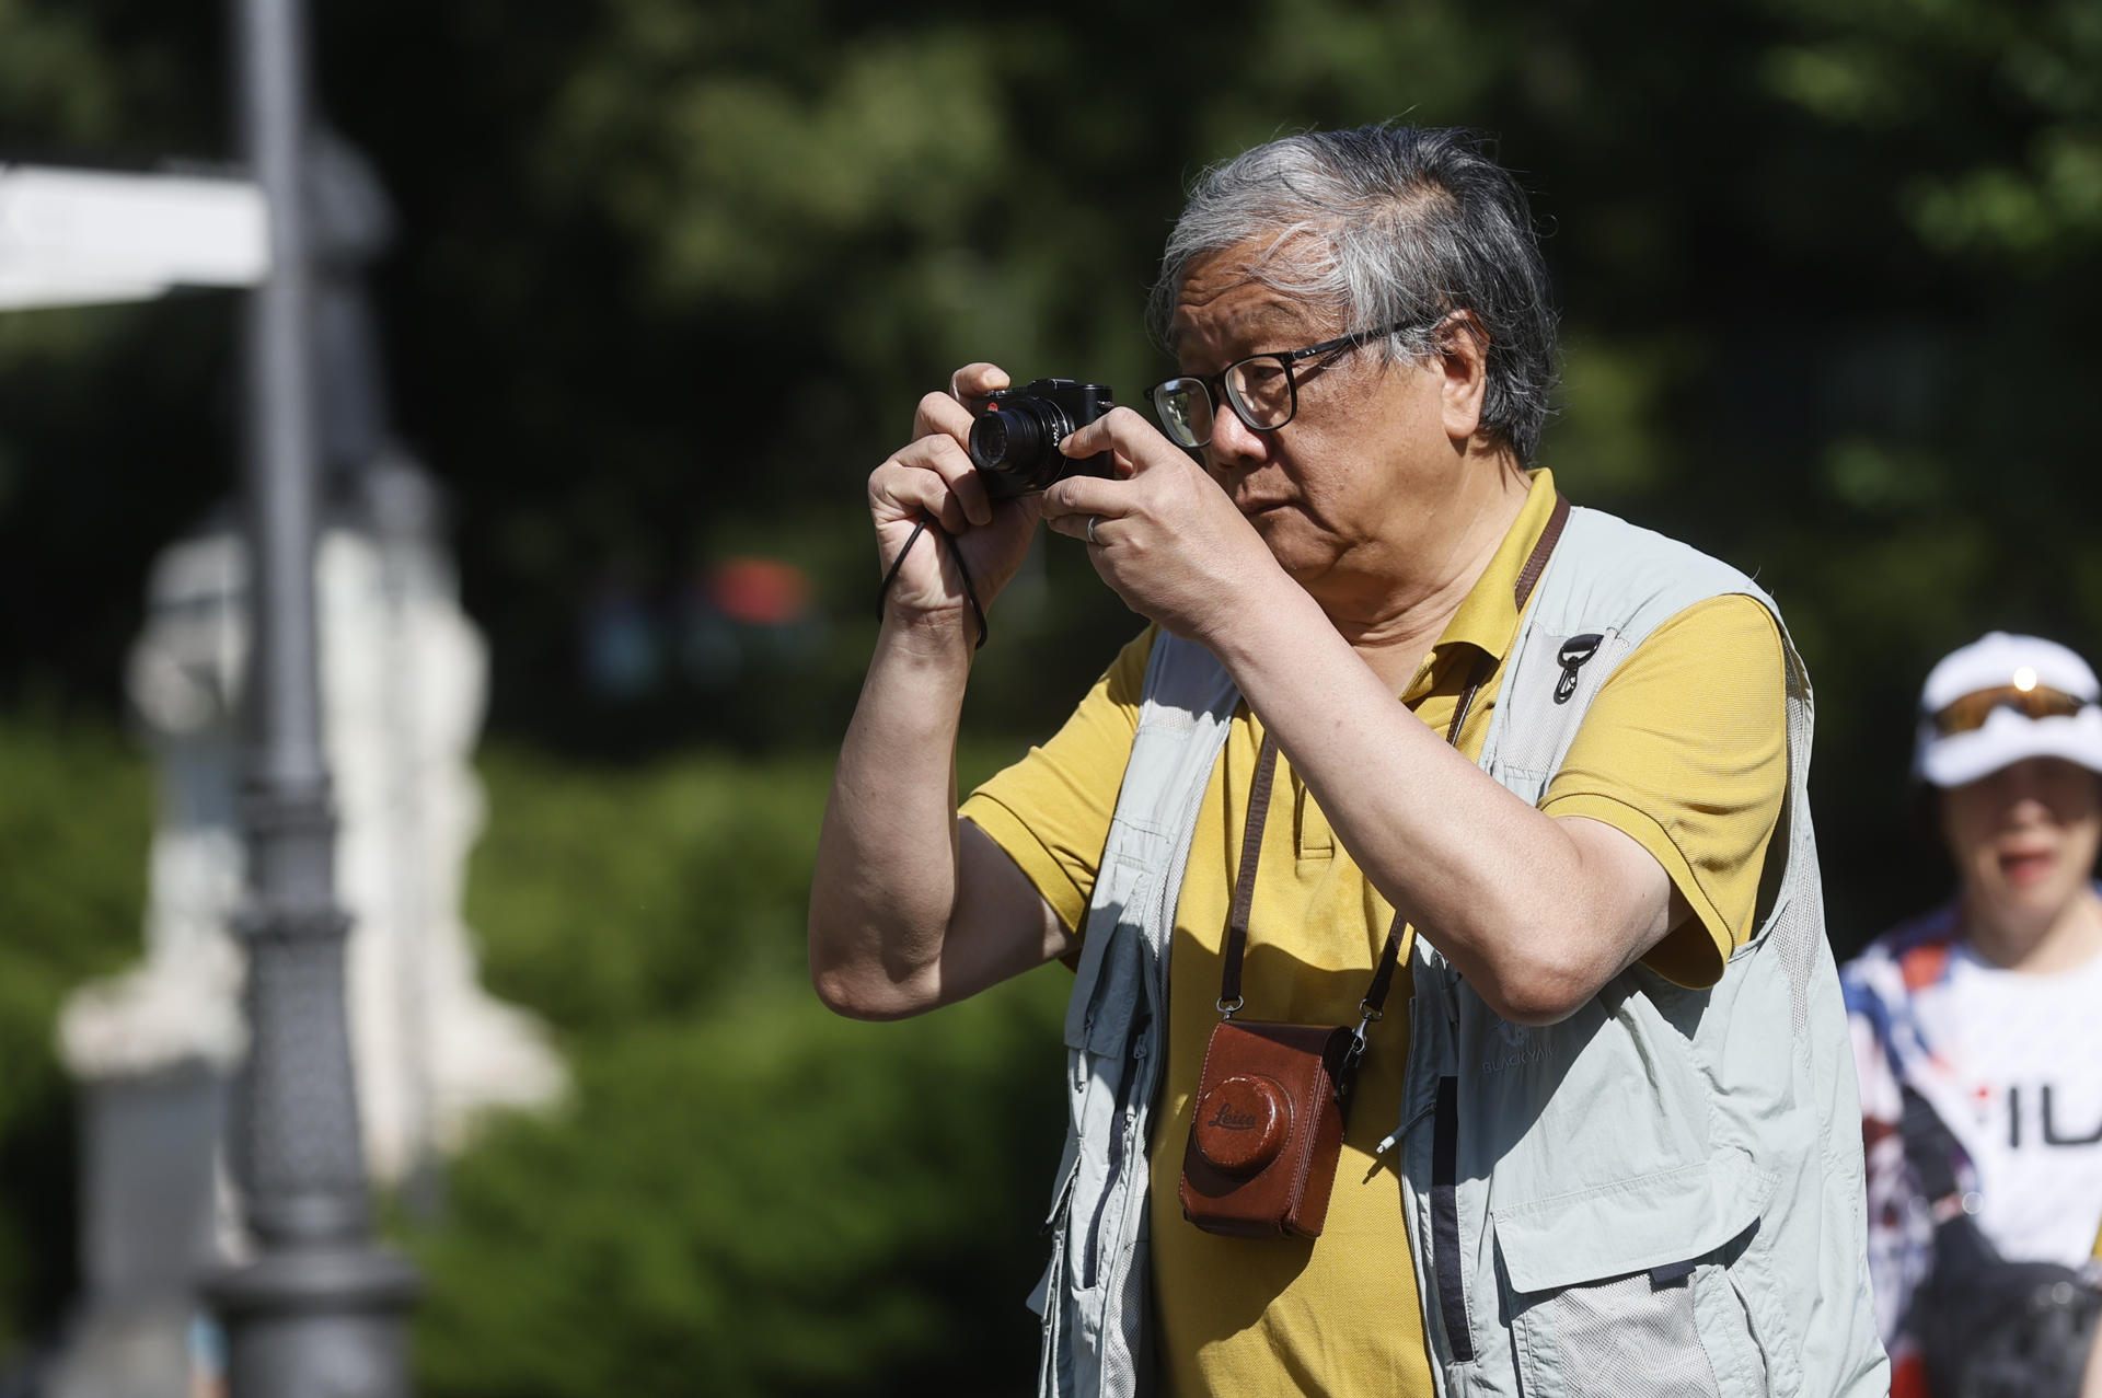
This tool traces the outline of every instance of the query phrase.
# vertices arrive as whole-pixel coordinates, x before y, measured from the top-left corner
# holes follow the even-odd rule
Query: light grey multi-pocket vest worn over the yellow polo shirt
[[[1614,666],[1736,570],[1576,509],[1518,629],[1480,765],[1539,803]],[[1570,637],[1598,637],[1576,664]],[[1410,950],[1394,1152],[1440,1398],[1881,1398],[1860,1108],[1810,830],[1810,679],[1787,654],[1789,790],[1757,931],[1709,990],[1633,967],[1562,1024],[1497,1017]],[[1585,652],[1579,643],[1566,654]],[[1148,1142],[1169,942],[1198,805],[1238,704],[1162,635],[1066,1013],[1070,1121],[1051,1196],[1038,1392],[1154,1385]],[[1246,1247],[1265,1247],[1246,1242]],[[1377,1324],[1377,1316],[1364,1316]]]

